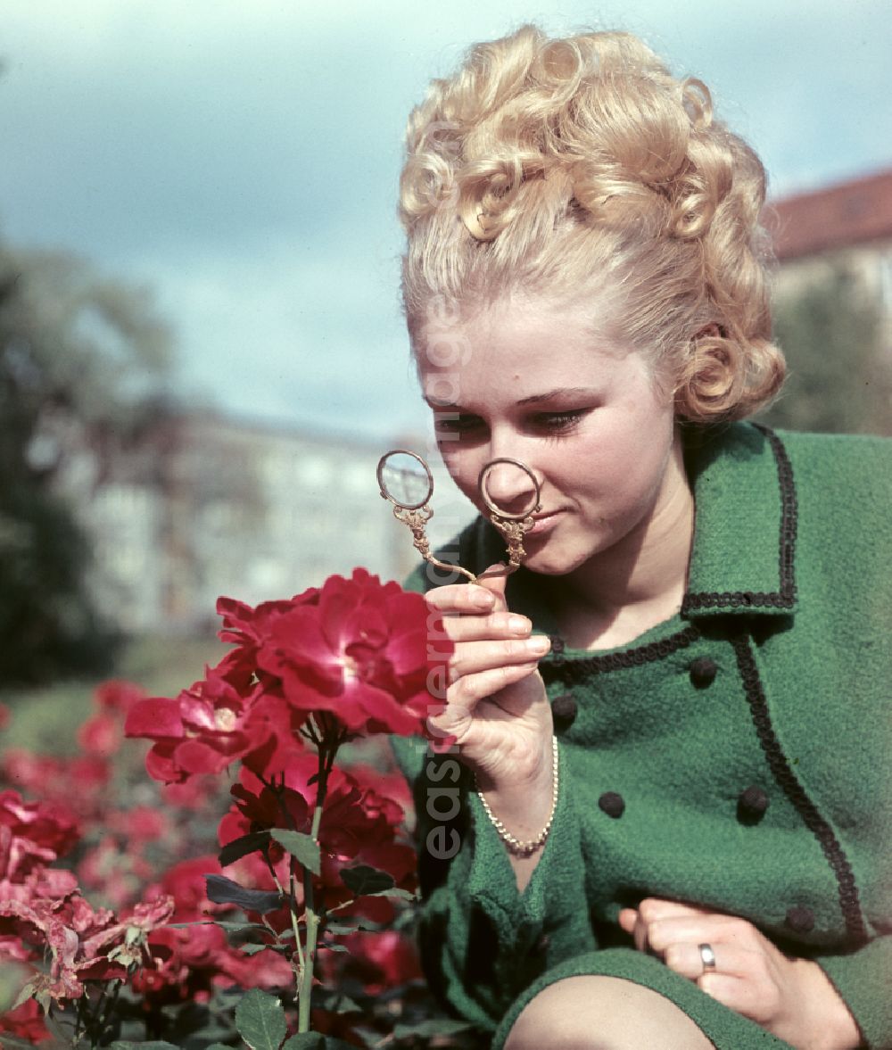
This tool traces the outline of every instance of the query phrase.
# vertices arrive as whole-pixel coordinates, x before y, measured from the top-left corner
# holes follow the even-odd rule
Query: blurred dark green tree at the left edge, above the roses
[[[170,346],[146,289],[0,246],[0,688],[107,670],[77,504],[165,405]]]

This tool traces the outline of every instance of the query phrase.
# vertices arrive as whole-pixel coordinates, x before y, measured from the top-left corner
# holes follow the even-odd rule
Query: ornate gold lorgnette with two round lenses
[[[515,467],[532,482],[529,502],[519,510],[511,511],[500,506],[489,489],[489,482],[494,467]],[[533,514],[541,510],[539,497],[541,486],[532,469],[521,460],[501,457],[486,463],[477,477],[477,488],[488,511],[487,517],[508,544],[508,564],[501,569],[487,569],[475,576],[473,572],[441,562],[430,552],[430,542],[427,539],[425,526],[433,517],[430,498],[433,496],[433,475],[430,467],[417,453],[407,448],[391,448],[378,461],[378,487],[383,499],[394,505],[394,517],[411,529],[412,543],[421,556],[438,568],[449,572],[460,572],[472,583],[483,576],[508,575],[521,566],[527,556],[524,550],[524,536],[533,527]]]

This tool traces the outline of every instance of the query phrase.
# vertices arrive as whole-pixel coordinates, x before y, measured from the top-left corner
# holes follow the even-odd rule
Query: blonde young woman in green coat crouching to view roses
[[[740,422],[784,372],[761,164],[634,37],[529,26],[407,142],[445,462],[541,485],[516,573],[412,581],[455,643],[455,747],[402,750],[432,985],[508,1050],[892,1047],[892,442]]]

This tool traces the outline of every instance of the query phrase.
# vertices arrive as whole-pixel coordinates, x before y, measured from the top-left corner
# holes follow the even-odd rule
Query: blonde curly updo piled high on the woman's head
[[[592,303],[672,384],[676,414],[741,419],[780,388],[770,341],[765,172],[637,38],[473,47],[409,118],[403,301],[418,353],[431,301],[512,293]],[[607,309],[606,309],[607,297]]]

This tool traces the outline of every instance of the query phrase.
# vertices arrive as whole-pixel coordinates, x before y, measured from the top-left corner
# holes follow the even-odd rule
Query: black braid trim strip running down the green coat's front
[[[855,883],[855,876],[852,865],[849,863],[843,850],[840,840],[836,838],[833,828],[827,823],[824,817],[817,812],[817,807],[806,795],[805,789],[797,779],[795,774],[787,761],[787,757],[781,749],[774,729],[771,726],[771,716],[768,713],[768,705],[765,699],[765,691],[759,679],[759,669],[749,646],[749,639],[745,634],[740,634],[731,639],[737,655],[737,664],[743,678],[746,699],[752,712],[752,721],[756,724],[756,732],[759,735],[759,742],[765,752],[768,766],[787,798],[795,806],[797,812],[802,817],[806,827],[821,843],[824,856],[827,858],[833,874],[836,877],[836,885],[840,892],[840,907],[843,910],[843,918],[846,921],[846,929],[858,943],[869,940],[867,928],[862,915],[858,888]]]

